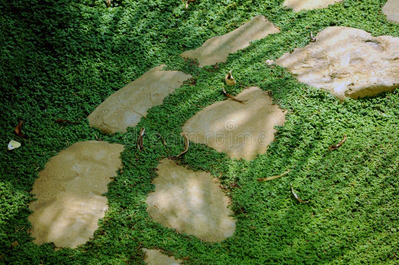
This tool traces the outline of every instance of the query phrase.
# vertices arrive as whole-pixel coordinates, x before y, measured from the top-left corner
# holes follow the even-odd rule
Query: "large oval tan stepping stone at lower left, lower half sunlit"
[[[37,200],[29,205],[34,243],[75,248],[93,237],[107,210],[102,194],[122,167],[123,149],[116,143],[77,142],[45,164],[31,191]]]

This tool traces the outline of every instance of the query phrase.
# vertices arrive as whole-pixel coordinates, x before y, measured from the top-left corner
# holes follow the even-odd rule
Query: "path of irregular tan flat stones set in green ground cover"
[[[338,1],[286,0],[284,5],[298,11],[335,2]],[[397,6],[398,1],[387,2],[384,12],[388,19],[392,19],[390,10]],[[200,67],[225,62],[229,53],[245,48],[251,40],[277,32],[272,23],[258,15],[181,56],[197,59]],[[357,99],[399,86],[398,54],[398,38],[329,27],[317,34],[316,42],[287,53],[274,63],[297,74],[300,82],[327,89],[340,99]],[[149,108],[162,104],[165,97],[192,77],[179,71],[161,71],[162,68],[164,65],[150,69],[112,94],[87,117],[90,125],[106,133],[125,133],[146,116]],[[208,144],[231,157],[254,159],[273,140],[274,126],[284,124],[285,112],[257,87],[245,89],[236,98],[244,102],[226,99],[208,106],[187,121],[183,132],[191,141]],[[121,167],[123,149],[123,145],[101,141],[78,142],[46,163],[32,189],[37,201],[29,206],[34,211],[29,221],[35,243],[54,242],[57,247],[74,248],[89,240],[107,209],[102,194],[107,191],[110,177]],[[157,168],[155,191],[147,198],[148,214],[155,221],[209,242],[233,236],[235,219],[228,208],[228,198],[210,174],[191,171],[169,159],[163,159]],[[181,262],[158,250],[143,251],[147,264]]]

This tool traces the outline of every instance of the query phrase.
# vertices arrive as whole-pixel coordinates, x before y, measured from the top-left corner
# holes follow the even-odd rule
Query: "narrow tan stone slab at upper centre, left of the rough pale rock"
[[[263,15],[257,15],[239,28],[225,35],[210,38],[199,48],[183,52],[180,56],[198,59],[200,67],[222,63],[227,60],[229,53],[247,47],[250,41],[262,39],[277,32],[280,32],[280,30]]]

